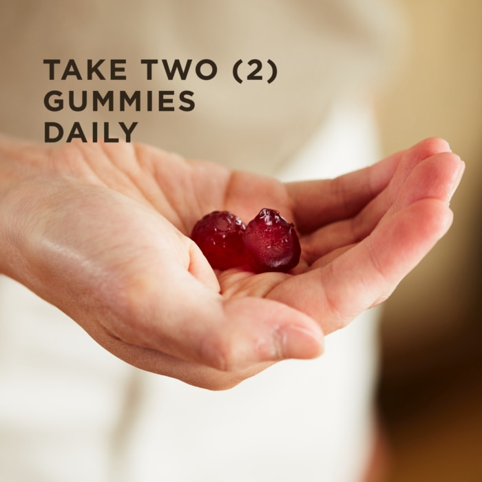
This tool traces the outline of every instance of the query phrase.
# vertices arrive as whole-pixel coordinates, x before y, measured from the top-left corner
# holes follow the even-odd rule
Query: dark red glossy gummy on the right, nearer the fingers
[[[301,247],[295,225],[282,218],[280,211],[262,209],[249,222],[242,238],[255,271],[286,272],[300,262]]]

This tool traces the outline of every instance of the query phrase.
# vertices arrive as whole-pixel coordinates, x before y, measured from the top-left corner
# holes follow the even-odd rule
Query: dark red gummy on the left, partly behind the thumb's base
[[[198,244],[209,264],[215,269],[228,269],[246,264],[242,234],[246,226],[229,211],[213,211],[194,225],[191,239]]]

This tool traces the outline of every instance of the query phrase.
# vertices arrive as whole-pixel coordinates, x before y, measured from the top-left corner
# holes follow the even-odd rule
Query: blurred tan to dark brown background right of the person
[[[482,481],[482,3],[401,0],[403,69],[379,99],[384,154],[441,136],[466,163],[452,229],[385,304],[385,482]]]

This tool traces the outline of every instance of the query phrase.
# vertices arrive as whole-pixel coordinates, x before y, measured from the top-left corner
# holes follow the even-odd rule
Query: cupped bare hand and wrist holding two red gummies
[[[282,184],[154,147],[0,137],[0,273],[143,370],[211,390],[309,359],[386,300],[446,233],[463,162],[430,138],[334,180]],[[291,273],[213,271],[190,239],[215,209],[295,223]]]

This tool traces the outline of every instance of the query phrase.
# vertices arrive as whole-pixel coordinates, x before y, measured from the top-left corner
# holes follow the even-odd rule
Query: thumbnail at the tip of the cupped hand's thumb
[[[273,337],[275,351],[280,359],[310,359],[323,353],[323,332],[305,326],[286,325],[280,327]]]

